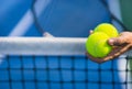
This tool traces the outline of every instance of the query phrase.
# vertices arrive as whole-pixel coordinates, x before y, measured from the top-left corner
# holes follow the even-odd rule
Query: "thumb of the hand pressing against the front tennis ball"
[[[125,38],[123,38],[123,36],[119,36],[119,37],[113,37],[108,40],[108,44],[112,45],[112,46],[120,46],[122,44],[124,44],[127,41]]]

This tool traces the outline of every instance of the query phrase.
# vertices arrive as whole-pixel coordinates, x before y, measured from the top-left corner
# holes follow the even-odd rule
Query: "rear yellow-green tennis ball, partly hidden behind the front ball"
[[[117,37],[119,35],[118,30],[110,23],[101,23],[97,25],[94,32],[103,32],[110,37]]]

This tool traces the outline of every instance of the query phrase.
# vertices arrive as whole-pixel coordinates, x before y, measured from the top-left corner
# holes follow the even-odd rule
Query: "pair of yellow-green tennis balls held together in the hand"
[[[101,23],[88,36],[86,49],[94,57],[105,57],[112,49],[112,46],[108,44],[108,40],[118,35],[118,30],[112,24]]]

